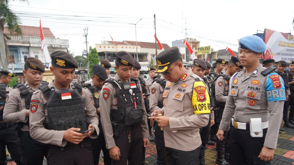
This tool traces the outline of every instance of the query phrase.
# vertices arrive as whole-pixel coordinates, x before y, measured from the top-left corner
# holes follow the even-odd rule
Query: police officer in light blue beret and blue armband
[[[285,87],[278,74],[259,63],[266,50],[261,38],[245,36],[239,42],[239,60],[244,69],[230,80],[217,137],[224,139],[232,120],[230,164],[270,164],[277,147]]]

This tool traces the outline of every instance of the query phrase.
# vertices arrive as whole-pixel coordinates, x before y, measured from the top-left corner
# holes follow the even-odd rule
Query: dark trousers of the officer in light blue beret
[[[251,137],[249,124],[246,128],[247,130],[231,127],[230,165],[270,164],[270,161],[263,161],[258,157],[268,129],[263,129],[263,137]]]

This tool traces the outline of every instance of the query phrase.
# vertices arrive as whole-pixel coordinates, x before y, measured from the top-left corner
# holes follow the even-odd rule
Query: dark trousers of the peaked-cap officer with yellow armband
[[[181,151],[166,147],[168,165],[195,165],[199,164],[201,146],[192,151]]]

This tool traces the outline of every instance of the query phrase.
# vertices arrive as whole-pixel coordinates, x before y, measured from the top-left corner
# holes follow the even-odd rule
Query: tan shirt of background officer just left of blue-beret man
[[[227,72],[223,74],[229,76]],[[229,93],[229,82],[225,80],[224,77],[220,76],[214,81],[214,86],[216,92],[216,101],[225,103]]]

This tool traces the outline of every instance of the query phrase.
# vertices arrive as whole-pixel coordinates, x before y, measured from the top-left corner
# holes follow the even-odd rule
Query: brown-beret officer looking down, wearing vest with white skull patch
[[[144,99],[138,81],[131,78],[135,65],[132,56],[119,51],[115,63],[115,79],[106,80],[99,94],[106,148],[112,164],[137,165],[142,163],[142,141],[144,147],[149,146]]]

